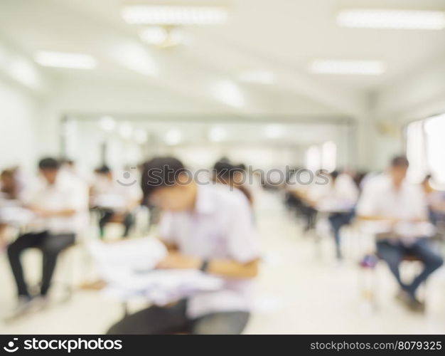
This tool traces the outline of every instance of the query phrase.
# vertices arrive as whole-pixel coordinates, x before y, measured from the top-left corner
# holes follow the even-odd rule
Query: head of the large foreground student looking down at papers
[[[141,177],[144,202],[161,209],[193,209],[196,184],[182,162],[174,157],[156,157],[144,163]]]

